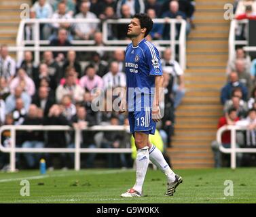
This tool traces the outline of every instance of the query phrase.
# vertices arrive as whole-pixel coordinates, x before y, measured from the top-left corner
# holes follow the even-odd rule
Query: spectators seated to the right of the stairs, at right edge
[[[240,0],[235,2],[234,12],[237,20],[256,20],[256,1]],[[247,24],[236,26],[236,39],[246,39]],[[227,62],[227,83],[221,89],[221,104],[223,104],[223,117],[219,119],[218,128],[223,125],[238,125],[246,127],[245,131],[236,133],[236,146],[256,148],[256,59],[244,52],[242,46],[236,47],[236,54]],[[222,144],[230,147],[230,132],[222,135]],[[215,153],[215,166],[230,164],[228,155],[221,155],[219,144],[213,142]],[[255,154],[238,153],[237,166],[255,165]],[[223,161],[224,160],[224,161]]]

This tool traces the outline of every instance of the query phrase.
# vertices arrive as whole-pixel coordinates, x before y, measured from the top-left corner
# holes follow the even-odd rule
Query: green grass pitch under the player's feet
[[[0,203],[256,203],[255,168],[175,170],[183,176],[174,196],[166,197],[166,178],[147,171],[144,197],[120,197],[132,187],[134,170],[39,171],[0,173]],[[20,195],[21,180],[29,180],[30,196]],[[232,180],[233,196],[224,194]],[[227,192],[231,192],[230,190]]]

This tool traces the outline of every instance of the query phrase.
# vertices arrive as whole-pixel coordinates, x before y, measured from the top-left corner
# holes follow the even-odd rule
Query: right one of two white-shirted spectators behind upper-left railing
[[[96,19],[96,15],[89,11],[90,2],[83,1],[80,5],[80,13],[75,16],[77,19]],[[84,22],[75,24],[75,35],[77,39],[89,40],[96,33],[98,24],[94,22]]]

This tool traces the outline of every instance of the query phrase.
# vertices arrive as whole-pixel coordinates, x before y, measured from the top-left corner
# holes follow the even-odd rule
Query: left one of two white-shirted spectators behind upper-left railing
[[[71,19],[72,15],[70,13],[67,13],[66,9],[67,9],[66,3],[64,1],[60,1],[58,3],[58,9],[52,15],[52,20],[55,20],[55,19],[69,20],[69,19]],[[73,37],[71,37],[71,24],[69,22],[54,22],[52,24],[52,27],[53,27],[54,34],[50,37],[50,40],[52,38],[56,37],[60,28],[65,29],[67,31],[67,37],[69,37],[69,40],[73,39]]]

